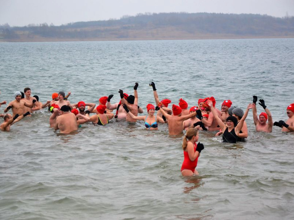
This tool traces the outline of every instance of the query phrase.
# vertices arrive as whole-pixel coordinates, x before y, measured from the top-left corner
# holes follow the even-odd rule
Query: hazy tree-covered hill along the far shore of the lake
[[[165,34],[163,34],[163,32]],[[223,13],[145,13],[123,16],[107,21],[88,21],[54,26],[52,23],[31,24],[23,27],[0,26],[0,39],[4,41],[25,38],[58,39],[128,39],[142,38],[152,33],[169,38],[181,35],[232,35],[238,37],[294,37],[294,17],[277,18],[260,14]],[[139,37],[140,36],[140,37]]]

